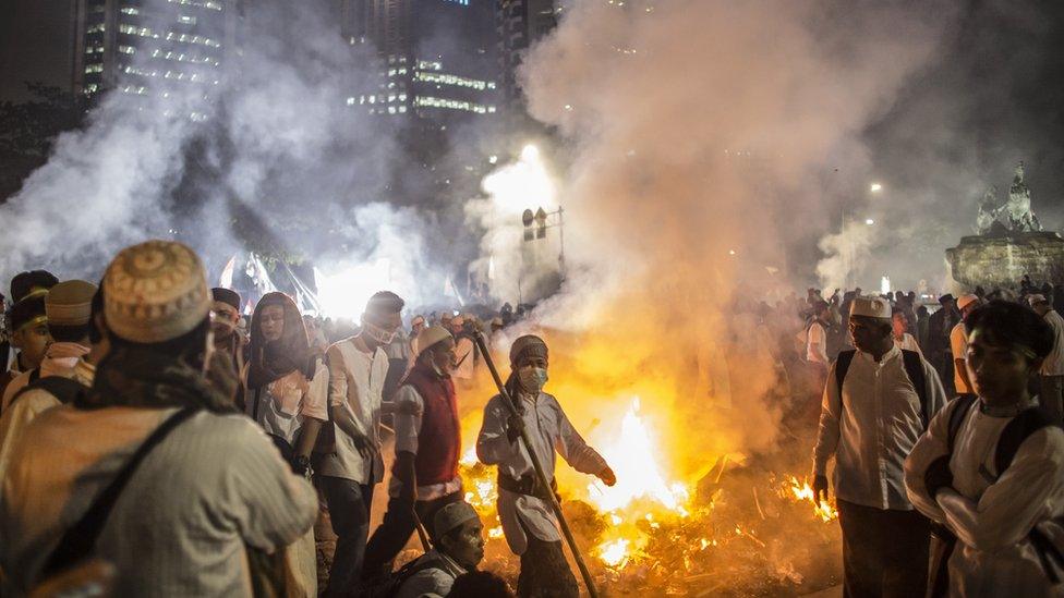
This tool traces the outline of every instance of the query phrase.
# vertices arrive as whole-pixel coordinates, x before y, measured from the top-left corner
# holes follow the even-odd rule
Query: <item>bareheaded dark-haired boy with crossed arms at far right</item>
[[[936,533],[944,566],[934,589],[1061,596],[1047,568],[1061,574],[1050,538],[1064,534],[1064,431],[1027,391],[1054,333],[1036,314],[1002,301],[974,312],[968,325],[977,396],[951,401],[905,462],[912,504],[947,532]]]

